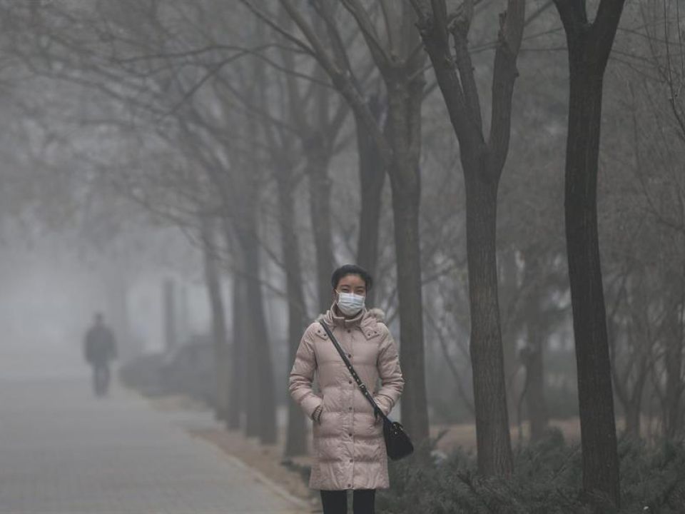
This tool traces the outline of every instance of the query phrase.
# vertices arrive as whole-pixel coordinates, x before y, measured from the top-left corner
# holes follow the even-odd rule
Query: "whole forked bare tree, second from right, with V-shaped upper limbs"
[[[516,59],[525,2],[509,0],[494,56],[492,121],[483,133],[479,92],[467,36],[473,2],[448,13],[444,0],[412,0],[437,84],[460,144],[466,186],[467,258],[471,309],[471,360],[476,409],[478,469],[508,476],[513,459],[504,385],[502,334],[497,298],[497,188],[509,149]],[[455,54],[450,50],[453,42]]]

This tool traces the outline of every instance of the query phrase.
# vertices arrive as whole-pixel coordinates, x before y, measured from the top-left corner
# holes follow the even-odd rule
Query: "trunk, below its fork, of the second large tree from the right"
[[[509,476],[513,458],[497,298],[497,181],[487,181],[484,170],[471,168],[483,161],[487,159],[462,156],[478,470]]]

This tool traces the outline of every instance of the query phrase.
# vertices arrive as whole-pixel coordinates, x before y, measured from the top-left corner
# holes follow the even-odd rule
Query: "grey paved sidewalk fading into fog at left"
[[[308,512],[183,428],[210,422],[116,387],[98,400],[86,377],[0,377],[0,514]]]

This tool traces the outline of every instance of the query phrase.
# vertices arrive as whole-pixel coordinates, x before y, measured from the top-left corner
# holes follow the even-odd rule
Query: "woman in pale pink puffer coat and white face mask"
[[[320,320],[347,353],[357,374],[387,415],[402,393],[404,379],[397,347],[382,323],[382,311],[365,308],[371,276],[347,264],[331,278],[333,305]],[[318,376],[318,390],[312,385]],[[324,514],[347,513],[347,490],[353,490],[355,514],[374,513],[375,492],[390,486],[382,419],[352,379],[320,323],[312,323],[300,341],[290,394],[313,420],[314,459],[310,488],[321,490]]]

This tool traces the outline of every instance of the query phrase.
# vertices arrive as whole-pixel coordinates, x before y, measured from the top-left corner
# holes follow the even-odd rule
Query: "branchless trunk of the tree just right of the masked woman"
[[[395,223],[397,297],[400,303],[400,361],[405,377],[402,422],[418,443],[427,440],[429,435],[419,236],[423,84],[422,75],[409,84],[388,84],[388,136],[393,153],[389,174]]]

